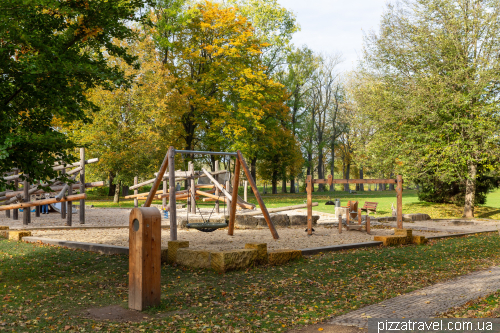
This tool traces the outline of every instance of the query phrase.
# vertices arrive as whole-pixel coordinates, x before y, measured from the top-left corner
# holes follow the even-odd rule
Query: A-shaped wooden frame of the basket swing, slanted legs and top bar
[[[279,239],[278,232],[274,227],[273,222],[271,221],[271,217],[269,216],[269,212],[267,211],[266,205],[260,196],[260,193],[257,189],[257,185],[255,184],[254,179],[248,169],[247,162],[243,158],[241,151],[237,152],[213,152],[213,151],[196,151],[196,150],[176,150],[173,146],[170,146],[163,162],[161,164],[160,170],[156,176],[156,179],[149,191],[146,202],[144,203],[144,207],[150,207],[153,199],[156,197],[156,191],[160,187],[160,183],[162,182],[163,176],[165,172],[169,172],[169,206],[170,206],[170,240],[177,240],[177,209],[176,209],[176,191],[175,191],[175,154],[197,154],[197,155],[225,155],[225,156],[234,156],[236,158],[235,168],[234,168],[234,186],[232,192],[231,206],[229,207],[229,225],[228,225],[228,235],[234,235],[234,222],[236,219],[236,204],[238,202],[238,188],[239,188],[239,180],[240,180],[240,168],[243,168],[245,175],[247,177],[248,182],[250,183],[250,187],[259,203],[259,207],[262,211],[262,215],[264,215],[264,219],[266,220],[267,226],[271,231],[271,234],[274,239]],[[229,199],[229,198],[228,198]],[[308,210],[309,211],[309,210]],[[312,207],[311,207],[312,212]]]

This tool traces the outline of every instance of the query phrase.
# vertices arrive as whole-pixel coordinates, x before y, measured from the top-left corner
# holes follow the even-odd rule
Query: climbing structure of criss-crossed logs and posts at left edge
[[[35,207],[35,216],[40,217],[40,206],[61,203],[60,213],[61,218],[66,219],[66,225],[71,226],[73,222],[73,201],[80,201],[79,221],[80,224],[85,223],[85,189],[92,187],[104,186],[104,182],[85,183],[85,165],[98,162],[98,158],[85,160],[85,148],[80,148],[80,161],[68,165],[53,165],[54,171],[60,171],[66,175],[73,175],[71,180],[76,180],[79,176],[79,181],[74,184],[65,183],[51,179],[43,184],[30,184],[29,176],[21,170],[13,170],[9,175],[5,175],[3,179],[7,182],[14,182],[15,189],[13,191],[0,192],[0,211],[5,211],[8,218],[12,216],[13,220],[19,219],[18,209],[23,209],[23,225],[28,226],[31,223],[31,207]],[[74,169],[72,169],[74,168]],[[70,170],[71,169],[71,170]],[[24,176],[23,188],[19,190],[19,179]],[[50,191],[39,189],[39,186],[49,187]],[[73,191],[79,191],[80,194],[73,194]],[[31,201],[31,196],[40,194],[53,194],[54,198]]]

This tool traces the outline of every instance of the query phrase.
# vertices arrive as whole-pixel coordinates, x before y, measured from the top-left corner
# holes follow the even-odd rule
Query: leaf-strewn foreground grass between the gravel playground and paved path
[[[0,330],[279,332],[498,264],[499,237],[490,233],[227,274],[163,266],[162,303],[148,311],[152,319],[98,322],[82,311],[126,307],[126,256],[0,240]]]

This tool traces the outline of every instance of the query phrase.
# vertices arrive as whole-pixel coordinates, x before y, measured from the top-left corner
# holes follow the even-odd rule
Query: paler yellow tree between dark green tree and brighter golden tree
[[[90,89],[87,98],[99,107],[97,112],[87,110],[92,122],[76,121],[62,126],[62,131],[100,158],[90,176],[109,177],[109,195],[115,195],[118,201],[119,185],[130,184],[134,176],[150,177],[165,157],[165,147],[179,143],[179,114],[185,103],[171,91],[172,78],[146,31],[140,30],[134,41],[115,43],[136,56],[141,65],[137,69],[119,58],[108,57],[110,66],[119,67],[133,78],[131,84],[113,91]],[[114,185],[118,185],[116,194]]]

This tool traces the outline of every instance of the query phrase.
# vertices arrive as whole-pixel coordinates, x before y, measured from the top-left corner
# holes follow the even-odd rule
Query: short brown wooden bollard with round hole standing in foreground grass
[[[161,214],[157,208],[134,208],[129,218],[130,309],[160,304]]]

